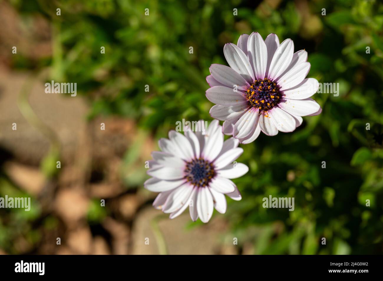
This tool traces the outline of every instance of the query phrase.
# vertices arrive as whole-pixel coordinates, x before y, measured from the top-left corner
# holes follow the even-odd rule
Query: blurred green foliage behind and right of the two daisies
[[[252,31],[293,39],[295,50],[308,51],[308,77],[339,83],[339,96],[314,95],[321,115],[304,117],[293,133],[261,134],[242,146],[239,161],[250,171],[234,180],[242,201],[228,199],[228,243],[238,237],[257,254],[383,253],[380,1],[11,2],[22,14],[41,13],[51,21],[53,54],[39,65],[52,68],[52,79],[77,82],[92,103],[89,118],[135,119],[155,139],[166,137],[177,120],[211,120],[205,77],[212,63],[227,65],[225,43]],[[127,164],[138,157],[134,153],[127,151]],[[136,188],[143,180],[125,179]],[[270,194],[295,197],[295,211],[262,208]]]

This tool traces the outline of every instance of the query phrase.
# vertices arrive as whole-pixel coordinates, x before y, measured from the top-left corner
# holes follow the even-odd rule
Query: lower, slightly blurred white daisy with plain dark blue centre
[[[198,123],[203,126],[202,121]],[[193,221],[199,217],[207,223],[213,206],[219,213],[226,212],[224,194],[241,200],[241,193],[230,180],[249,171],[245,164],[233,163],[243,152],[237,147],[239,141],[235,138],[223,141],[218,120],[213,120],[205,132],[203,135],[185,128],[185,135],[182,135],[172,130],[169,139],[159,140],[162,151],[152,152],[153,160],[147,171],[152,178],[146,180],[144,186],[160,192],[153,206],[170,213],[171,219],[189,206]]]

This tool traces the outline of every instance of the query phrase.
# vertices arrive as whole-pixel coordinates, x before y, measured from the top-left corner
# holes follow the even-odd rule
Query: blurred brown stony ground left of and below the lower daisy
[[[151,226],[152,219],[161,214],[150,205],[155,193],[147,192],[142,185],[138,190],[127,189],[121,181],[124,153],[137,135],[134,122],[118,117],[98,117],[88,122],[88,105],[80,96],[45,94],[43,82],[36,81],[29,97],[31,107],[57,134],[62,146],[59,175],[48,180],[38,165],[49,151],[49,140],[28,123],[17,106],[26,78],[27,73],[0,71],[0,111],[6,112],[0,117],[0,146],[11,155],[3,169],[16,186],[49,201],[41,202],[41,215],[57,217],[59,226],[52,231],[38,226],[44,238],[37,245],[30,245],[23,237],[15,239],[19,253],[158,254]],[[17,123],[16,131],[12,130],[13,122]],[[101,122],[105,131],[100,130]],[[151,150],[156,149],[154,140],[147,141],[137,163],[142,167],[150,159]],[[93,198],[105,199],[109,211],[97,226],[87,222]],[[221,233],[226,229],[222,219],[186,229],[189,222],[188,211],[179,218],[159,222],[169,253],[234,253],[221,247]],[[56,245],[57,237],[61,245]],[[146,238],[149,245],[145,244]]]

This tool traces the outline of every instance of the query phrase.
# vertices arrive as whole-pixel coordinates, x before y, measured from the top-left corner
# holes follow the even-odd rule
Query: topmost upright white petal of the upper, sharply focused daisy
[[[247,41],[247,55],[256,79],[264,79],[267,67],[267,47],[258,32],[250,34]]]

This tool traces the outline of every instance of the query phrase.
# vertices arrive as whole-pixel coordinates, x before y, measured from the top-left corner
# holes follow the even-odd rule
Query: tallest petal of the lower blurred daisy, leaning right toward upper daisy
[[[218,120],[213,120],[211,123],[213,122],[218,122]],[[210,126],[212,126],[212,124],[210,124]],[[211,132],[210,126],[205,135],[205,146],[202,151],[202,157],[205,160],[213,161],[222,150],[224,136],[221,126],[214,126],[214,128],[216,128],[214,132]]]

